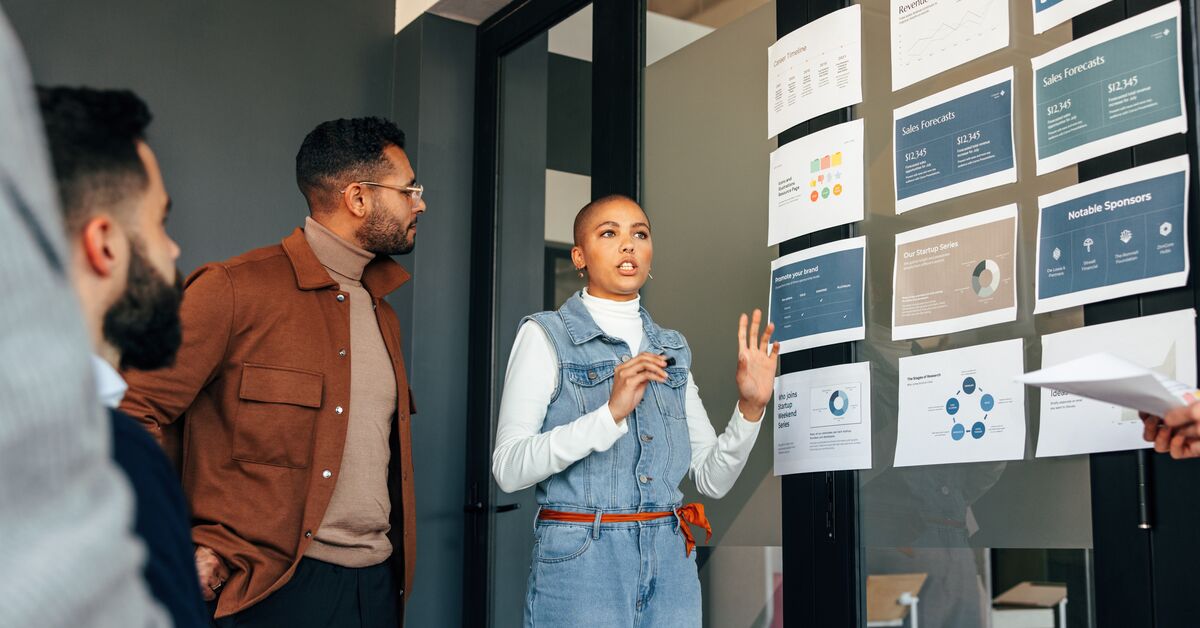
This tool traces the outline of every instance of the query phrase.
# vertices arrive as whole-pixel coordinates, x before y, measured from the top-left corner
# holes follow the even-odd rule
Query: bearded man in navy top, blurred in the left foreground
[[[179,246],[167,234],[167,195],[145,140],[150,109],[133,92],[38,88],[71,252],[71,283],[92,341],[92,371],[109,408],[113,459],[134,495],[150,592],[178,627],[208,624],[193,568],[187,506],[162,449],[114,409],[118,367],[160,369],[179,348]]]

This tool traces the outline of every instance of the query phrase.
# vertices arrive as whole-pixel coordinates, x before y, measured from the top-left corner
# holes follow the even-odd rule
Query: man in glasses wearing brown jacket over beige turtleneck
[[[400,323],[424,189],[378,118],[296,154],[310,216],[278,245],[187,279],[175,366],[121,405],[181,429],[200,588],[217,626],[396,627],[415,551],[413,412]]]

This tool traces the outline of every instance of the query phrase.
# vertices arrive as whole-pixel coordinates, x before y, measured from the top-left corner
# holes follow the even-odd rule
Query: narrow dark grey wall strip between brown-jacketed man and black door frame
[[[425,185],[413,289],[397,295],[413,394],[416,576],[408,626],[462,623],[475,29],[425,14],[396,35],[392,116]]]

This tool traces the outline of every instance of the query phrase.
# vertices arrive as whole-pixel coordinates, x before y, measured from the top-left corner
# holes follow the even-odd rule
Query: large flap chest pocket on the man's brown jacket
[[[324,379],[313,371],[246,364],[238,390],[234,460],[307,467]]]

